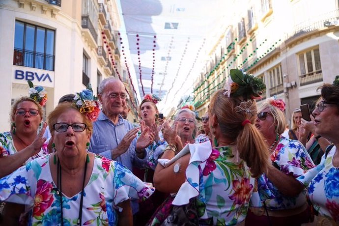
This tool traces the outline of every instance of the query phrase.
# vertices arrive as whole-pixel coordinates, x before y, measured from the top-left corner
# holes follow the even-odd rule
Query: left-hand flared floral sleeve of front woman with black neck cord
[[[26,166],[0,179],[0,201],[24,204],[31,208],[34,199],[30,191]]]

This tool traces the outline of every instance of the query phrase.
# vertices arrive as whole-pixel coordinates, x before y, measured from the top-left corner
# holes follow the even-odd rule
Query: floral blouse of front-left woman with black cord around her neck
[[[29,225],[61,223],[60,199],[52,179],[49,156],[32,160],[0,179],[0,200],[27,205]],[[118,203],[129,198],[148,198],[154,188],[144,184],[118,162],[96,155],[83,202],[83,225],[117,225]],[[63,195],[63,224],[76,225],[81,192]]]

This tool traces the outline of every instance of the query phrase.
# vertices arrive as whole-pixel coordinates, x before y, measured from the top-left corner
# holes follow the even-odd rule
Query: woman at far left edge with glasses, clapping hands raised
[[[43,90],[41,88],[40,92]],[[36,94],[39,95],[39,91],[32,97]],[[46,123],[41,124],[43,111],[40,104],[44,105],[45,102],[46,98],[34,100],[26,96],[13,104],[10,113],[11,131],[0,133],[0,178],[32,159],[47,154],[47,143],[43,138]],[[40,126],[42,129],[39,131]]]

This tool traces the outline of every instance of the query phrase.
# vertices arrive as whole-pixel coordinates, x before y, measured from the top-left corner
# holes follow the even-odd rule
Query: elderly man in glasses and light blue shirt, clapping
[[[122,118],[120,113],[126,105],[125,86],[113,77],[99,85],[98,98],[102,104],[97,121],[93,123],[93,135],[89,151],[123,164],[133,172],[133,167],[144,168],[147,163],[147,147],[154,135],[145,128],[139,139],[139,128]],[[132,201],[133,213],[138,212],[138,203]]]

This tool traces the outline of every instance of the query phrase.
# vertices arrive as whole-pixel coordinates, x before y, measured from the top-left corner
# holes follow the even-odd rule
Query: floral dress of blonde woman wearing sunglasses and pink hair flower
[[[275,151],[271,155],[273,165],[285,174],[294,178],[304,174],[314,167],[311,157],[305,147],[296,140],[281,137]],[[251,198],[251,206],[262,206],[261,201],[270,210],[294,209],[301,207],[307,201],[306,192],[296,197],[283,196],[277,187],[265,174],[257,178],[258,192]]]

